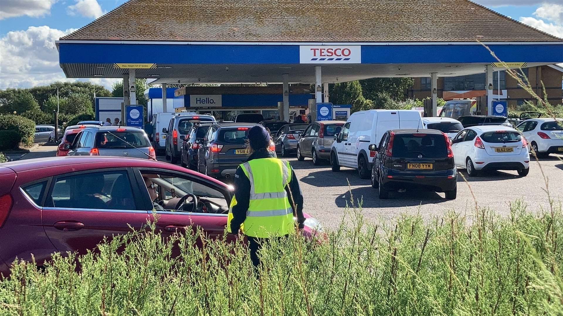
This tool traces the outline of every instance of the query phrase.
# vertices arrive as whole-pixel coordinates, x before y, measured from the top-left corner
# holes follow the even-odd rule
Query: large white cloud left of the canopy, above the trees
[[[55,40],[74,30],[30,26],[27,30],[10,31],[0,38],[0,89],[29,88],[57,80],[76,81],[77,79],[65,78],[59,66],[59,52],[55,47]],[[120,79],[79,80],[89,80],[111,88]]]

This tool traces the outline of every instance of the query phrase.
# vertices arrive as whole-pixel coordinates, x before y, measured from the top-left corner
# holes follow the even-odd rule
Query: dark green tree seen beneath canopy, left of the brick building
[[[380,92],[387,93],[392,99],[405,100],[405,90],[413,85],[412,78],[371,78],[360,80],[361,91],[365,98],[376,100]]]

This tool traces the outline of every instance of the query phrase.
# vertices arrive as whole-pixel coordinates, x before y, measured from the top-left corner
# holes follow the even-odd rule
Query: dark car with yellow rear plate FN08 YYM
[[[448,200],[457,196],[452,147],[439,130],[388,130],[369,150],[374,156],[372,187],[379,188],[379,198],[398,189],[445,192]]]

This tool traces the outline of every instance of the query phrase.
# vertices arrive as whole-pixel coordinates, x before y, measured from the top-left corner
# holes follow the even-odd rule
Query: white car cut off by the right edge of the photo
[[[563,119],[528,119],[516,127],[538,157],[563,154]]]

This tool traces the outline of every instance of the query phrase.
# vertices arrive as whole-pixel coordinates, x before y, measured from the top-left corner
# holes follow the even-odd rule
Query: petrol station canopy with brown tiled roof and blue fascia
[[[68,78],[315,83],[563,62],[563,39],[467,0],[130,0],[57,41]],[[522,65],[522,64],[519,64]],[[501,67],[494,67],[494,70]]]

